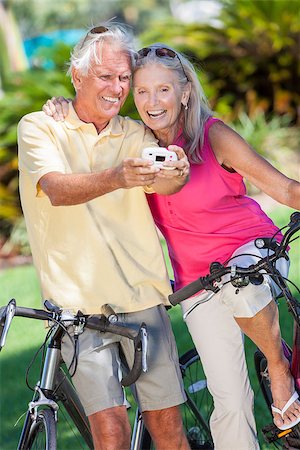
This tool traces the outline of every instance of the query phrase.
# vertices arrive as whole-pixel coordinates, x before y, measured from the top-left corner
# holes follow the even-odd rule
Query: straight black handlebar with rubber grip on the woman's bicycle
[[[204,277],[200,277],[187,286],[179,289],[173,294],[169,295],[170,303],[175,306],[178,303],[186,300],[192,295],[196,294],[201,290],[210,290],[213,292],[218,292],[220,288],[216,284],[216,281],[221,279],[224,275],[231,273],[231,282],[237,280],[239,277],[251,277],[254,276],[257,278],[257,274],[260,270],[268,269],[270,267],[270,263],[277,261],[277,259],[286,256],[286,249],[289,245],[289,242],[292,236],[300,230],[300,212],[294,212],[290,217],[290,223],[287,225],[288,230],[283,235],[283,239],[279,245],[276,245],[274,249],[271,245],[272,241],[269,244],[266,244],[266,248],[270,248],[274,250],[272,255],[266,256],[258,261],[256,264],[252,264],[249,267],[238,267],[235,265],[231,266],[223,266],[220,263],[212,263],[210,267],[210,273],[205,275]],[[262,238],[263,240],[263,238]],[[270,239],[266,239],[266,241],[270,241]],[[256,239],[257,241],[257,239]],[[275,241],[273,241],[274,243]],[[262,247],[261,247],[262,248]]]

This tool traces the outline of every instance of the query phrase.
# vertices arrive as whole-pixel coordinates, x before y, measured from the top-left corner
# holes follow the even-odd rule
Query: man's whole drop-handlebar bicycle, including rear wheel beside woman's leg
[[[72,315],[52,305],[49,301],[44,303],[46,310],[18,307],[14,299],[7,306],[0,308],[0,350],[4,347],[6,336],[12,319],[15,316],[48,321],[50,330],[47,333],[43,348],[41,377],[35,384],[32,401],[24,420],[18,450],[56,450],[58,416],[65,410],[70,421],[74,424],[79,435],[80,448],[93,448],[89,422],[75,389],[67,375],[67,370],[61,359],[60,343],[63,335],[67,333],[69,325],[75,326],[75,336],[79,335],[84,327],[103,332],[112,332],[126,336],[134,341],[135,357],[130,372],[123,377],[123,386],[134,383],[141,371],[147,370],[147,329],[141,324],[138,331],[117,324],[117,316],[106,305],[100,317]],[[76,339],[75,339],[76,340]],[[74,358],[76,366],[76,358]],[[201,364],[195,349],[190,350],[180,358],[180,367],[185,383],[188,401],[182,406],[186,433],[192,448],[213,449],[212,438],[208,425],[208,417],[212,410],[212,399],[208,393],[206,382],[199,373]],[[28,373],[27,373],[28,377]],[[28,379],[26,379],[27,386]],[[205,408],[202,408],[202,402]],[[202,408],[202,409],[201,409]],[[131,450],[150,449],[151,437],[146,430],[142,415],[136,409]]]

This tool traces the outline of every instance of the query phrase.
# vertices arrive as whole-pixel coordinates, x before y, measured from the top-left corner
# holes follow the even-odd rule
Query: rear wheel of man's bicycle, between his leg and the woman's
[[[195,348],[179,358],[187,401],[181,405],[183,424],[191,449],[214,448],[209,428],[213,399],[207,389],[200,357]]]

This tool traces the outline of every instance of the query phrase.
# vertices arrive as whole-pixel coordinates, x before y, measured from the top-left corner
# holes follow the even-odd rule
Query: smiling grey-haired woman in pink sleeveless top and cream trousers
[[[191,164],[190,181],[179,193],[148,195],[155,223],[167,241],[176,288],[206,275],[212,261],[224,263],[247,253],[236,259],[238,265],[247,266],[264,256],[264,250],[258,250],[253,241],[273,236],[278,228],[246,196],[243,177],[292,208],[299,208],[300,184],[276,170],[235,131],[213,117],[192,64],[165,44],[138,52],[133,94],[141,119],[160,146],[184,148]],[[62,105],[57,105],[56,118],[68,109],[65,101]],[[53,114],[53,106],[48,101],[43,109]],[[277,237],[280,239],[280,234]],[[287,273],[287,262],[281,260],[278,268]],[[282,353],[272,292],[267,279],[260,286],[241,288],[238,295],[228,284],[186,319],[214,398],[210,425],[216,450],[259,448],[243,333],[268,360],[277,408],[275,424],[284,429],[300,421],[300,403]],[[185,300],[183,310],[199,295]],[[278,409],[282,410],[293,394],[295,400],[281,416]]]

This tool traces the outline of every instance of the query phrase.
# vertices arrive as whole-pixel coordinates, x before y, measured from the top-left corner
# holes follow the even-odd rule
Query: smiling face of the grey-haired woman
[[[184,94],[173,70],[160,64],[138,68],[133,95],[141,119],[151,130],[167,134],[178,131]]]

